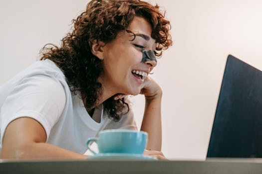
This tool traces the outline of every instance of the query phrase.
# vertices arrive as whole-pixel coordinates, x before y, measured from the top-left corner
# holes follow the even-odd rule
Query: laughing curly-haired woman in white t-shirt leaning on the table
[[[171,44],[169,21],[140,0],[91,0],[61,47],[0,87],[1,158],[86,159],[103,129],[136,129],[128,95],[146,99],[145,155],[161,153],[162,90],[148,75]]]

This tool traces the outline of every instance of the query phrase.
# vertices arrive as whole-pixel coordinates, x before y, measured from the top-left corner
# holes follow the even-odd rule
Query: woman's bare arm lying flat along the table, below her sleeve
[[[44,128],[29,117],[12,121],[6,128],[2,142],[2,159],[86,159],[77,154],[46,142]]]

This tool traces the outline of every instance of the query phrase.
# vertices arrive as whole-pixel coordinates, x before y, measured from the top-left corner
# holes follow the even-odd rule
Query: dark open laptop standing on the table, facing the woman
[[[207,158],[262,158],[262,71],[229,55]]]

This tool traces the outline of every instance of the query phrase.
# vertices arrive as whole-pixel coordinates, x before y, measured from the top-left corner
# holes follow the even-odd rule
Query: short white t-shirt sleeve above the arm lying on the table
[[[65,90],[54,77],[35,75],[15,85],[0,110],[0,140],[7,125],[16,118],[30,117],[44,128],[47,138],[65,105]]]

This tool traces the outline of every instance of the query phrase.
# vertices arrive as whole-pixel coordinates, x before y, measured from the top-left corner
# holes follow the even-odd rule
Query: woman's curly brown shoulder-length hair
[[[134,16],[144,17],[152,27],[151,37],[156,40],[156,56],[172,45],[169,33],[171,26],[165,13],[158,5],[141,0],[91,0],[86,10],[76,19],[73,31],[62,40],[61,46],[45,45],[41,49],[41,60],[53,61],[64,73],[71,91],[79,91],[85,98],[87,108],[92,108],[103,92],[97,82],[103,72],[102,61],[91,53],[89,41],[99,40],[108,43],[116,38],[118,32],[126,30]],[[104,101],[105,111],[110,118],[119,120],[128,104],[124,98],[114,100],[113,96]]]

